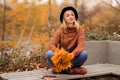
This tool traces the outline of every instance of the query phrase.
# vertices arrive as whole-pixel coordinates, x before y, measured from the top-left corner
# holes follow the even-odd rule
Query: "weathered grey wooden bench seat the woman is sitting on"
[[[46,80],[68,80],[68,79],[77,79],[77,78],[88,78],[102,75],[116,75],[120,76],[120,65],[114,64],[94,64],[86,65],[88,73],[85,75],[69,75],[69,74],[52,74],[51,69],[49,70],[34,70],[34,71],[25,71],[25,72],[13,72],[13,73],[4,73],[0,74],[1,77],[7,80],[44,80],[43,76],[56,76],[46,78]]]

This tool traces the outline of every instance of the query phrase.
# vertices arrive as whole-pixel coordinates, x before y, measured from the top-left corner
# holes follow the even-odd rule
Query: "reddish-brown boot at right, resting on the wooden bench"
[[[70,71],[70,74],[81,74],[84,75],[87,73],[87,69],[84,67],[76,67],[76,68],[72,68]]]

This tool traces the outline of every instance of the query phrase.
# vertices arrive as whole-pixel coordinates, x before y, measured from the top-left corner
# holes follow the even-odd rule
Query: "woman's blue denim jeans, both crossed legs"
[[[48,62],[53,66],[53,62],[51,61],[51,57],[53,56],[53,51],[52,50],[49,50],[47,53],[46,53],[46,59],[48,60]],[[72,67],[80,67],[82,66],[85,61],[87,60],[87,57],[88,57],[88,53],[87,51],[83,50],[79,55],[77,55],[73,60],[72,60],[72,64],[73,66]],[[65,73],[69,73],[69,71],[71,70],[71,68],[68,68],[67,70],[65,70],[64,72]]]

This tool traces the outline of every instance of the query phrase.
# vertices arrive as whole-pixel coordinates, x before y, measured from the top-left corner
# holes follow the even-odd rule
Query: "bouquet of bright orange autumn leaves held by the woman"
[[[54,70],[56,73],[60,73],[61,71],[67,69],[72,66],[71,60],[74,58],[74,55],[71,55],[69,52],[64,50],[63,48],[56,48],[53,57],[51,58],[54,64]]]

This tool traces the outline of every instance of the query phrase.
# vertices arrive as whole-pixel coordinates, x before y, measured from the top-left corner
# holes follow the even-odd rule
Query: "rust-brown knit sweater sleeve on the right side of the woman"
[[[80,27],[79,32],[78,32],[78,45],[77,47],[72,51],[72,53],[77,56],[81,51],[85,49],[85,36],[84,36],[84,31],[83,28]]]

